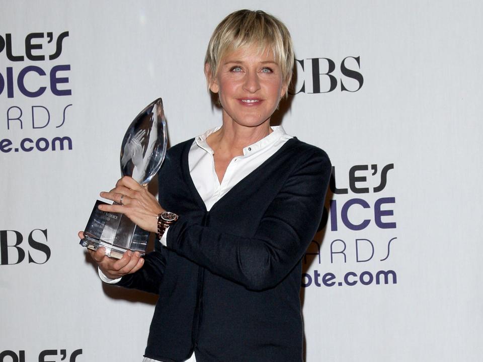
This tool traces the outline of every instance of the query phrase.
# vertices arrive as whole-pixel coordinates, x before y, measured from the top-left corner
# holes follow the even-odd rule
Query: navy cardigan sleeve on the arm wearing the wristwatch
[[[168,248],[247,289],[276,286],[317,230],[332,170],[327,154],[315,147],[298,160],[253,237],[218,232],[181,215],[170,226]]]

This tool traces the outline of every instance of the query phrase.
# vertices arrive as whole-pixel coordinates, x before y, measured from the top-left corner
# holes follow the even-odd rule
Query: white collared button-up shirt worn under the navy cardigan
[[[242,156],[234,157],[228,167],[221,183],[215,172],[215,161],[213,150],[206,142],[206,138],[220,129],[212,128],[195,138],[188,155],[188,164],[193,184],[205,203],[206,210],[210,211],[213,205],[220,200],[238,182],[248,176],[258,166],[265,162],[270,156],[277,152],[292,136],[285,133],[282,126],[271,127],[272,133],[254,144],[243,149]],[[166,246],[166,238],[169,228],[159,240]],[[119,279],[107,278],[99,269],[99,277],[105,283],[117,283]],[[151,358],[144,358],[143,362],[161,362]],[[196,362],[193,353],[187,362]]]

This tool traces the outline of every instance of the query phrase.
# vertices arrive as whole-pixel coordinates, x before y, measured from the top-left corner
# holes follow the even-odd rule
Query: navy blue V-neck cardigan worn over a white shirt
[[[327,154],[292,138],[207,212],[189,172],[192,143],[172,147],[159,171],[159,203],[180,215],[168,247],[118,283],[159,294],[145,356],[302,361],[300,260],[322,216]]]

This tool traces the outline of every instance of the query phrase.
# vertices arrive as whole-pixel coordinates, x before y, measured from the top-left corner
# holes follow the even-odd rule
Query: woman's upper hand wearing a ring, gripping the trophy
[[[165,210],[147,187],[139,185],[134,178],[122,177],[114,189],[100,196],[119,205],[100,205],[99,210],[124,214],[142,229],[157,232],[157,215]]]

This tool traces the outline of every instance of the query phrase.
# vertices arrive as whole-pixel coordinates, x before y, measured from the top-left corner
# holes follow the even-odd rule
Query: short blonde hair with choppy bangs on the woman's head
[[[216,27],[208,49],[205,65],[209,66],[211,79],[218,73],[221,58],[228,52],[245,45],[258,45],[260,51],[271,49],[280,66],[284,84],[292,79],[294,62],[292,38],[287,27],[274,16],[261,10],[238,10]]]

